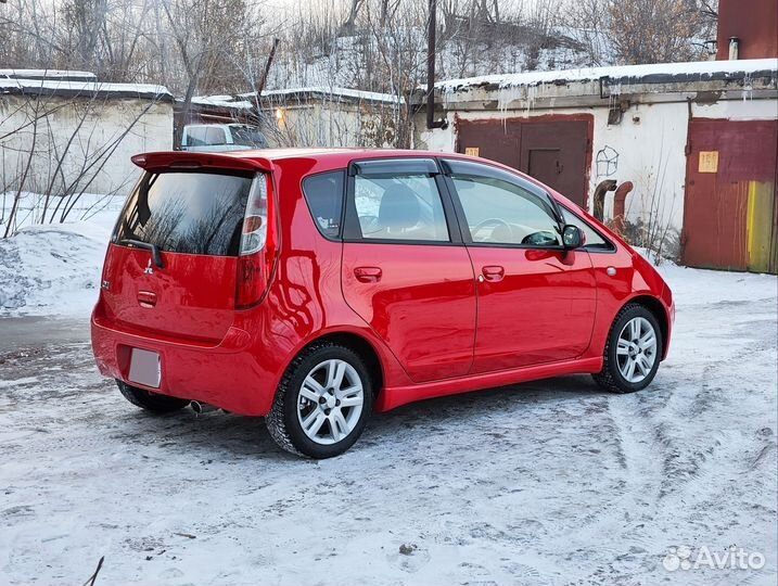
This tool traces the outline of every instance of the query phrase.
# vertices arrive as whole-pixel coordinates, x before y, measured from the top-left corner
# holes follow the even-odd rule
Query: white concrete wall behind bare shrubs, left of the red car
[[[171,148],[170,102],[0,94],[0,192],[123,194],[138,176],[130,156]]]

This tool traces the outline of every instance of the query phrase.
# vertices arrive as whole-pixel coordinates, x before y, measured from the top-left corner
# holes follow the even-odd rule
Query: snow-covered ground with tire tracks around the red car
[[[643,392],[567,377],[409,405],[317,462],[257,419],[149,417],[98,375],[98,229],[14,239],[17,272],[50,255],[56,284],[24,281],[0,318],[0,584],[81,584],[101,557],[98,584],[776,583],[775,277],[661,267],[677,318]],[[59,298],[80,298],[67,319],[18,317]],[[678,546],[765,564],[667,571]]]

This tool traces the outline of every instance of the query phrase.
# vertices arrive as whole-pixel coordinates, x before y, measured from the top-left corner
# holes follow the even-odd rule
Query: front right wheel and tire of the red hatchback
[[[662,331],[654,315],[642,305],[627,304],[608,334],[602,370],[592,377],[611,393],[640,391],[656,375],[662,352]]]

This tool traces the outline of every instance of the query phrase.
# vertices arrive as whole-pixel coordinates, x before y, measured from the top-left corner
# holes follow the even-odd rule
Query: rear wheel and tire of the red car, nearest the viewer
[[[284,450],[331,458],[359,438],[372,403],[372,379],[362,358],[346,346],[323,342],[289,366],[265,423]]]

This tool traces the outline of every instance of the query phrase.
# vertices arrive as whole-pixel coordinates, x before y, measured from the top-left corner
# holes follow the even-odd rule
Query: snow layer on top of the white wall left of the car
[[[0,93],[64,98],[100,95],[102,98],[143,98],[173,101],[173,94],[165,86],[151,84],[101,84],[51,79],[3,79],[0,77]]]

